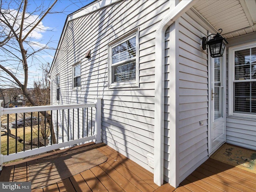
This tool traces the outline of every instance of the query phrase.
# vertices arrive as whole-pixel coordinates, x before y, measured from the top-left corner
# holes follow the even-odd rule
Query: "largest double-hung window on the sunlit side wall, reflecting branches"
[[[138,86],[138,32],[109,46],[109,87]]]

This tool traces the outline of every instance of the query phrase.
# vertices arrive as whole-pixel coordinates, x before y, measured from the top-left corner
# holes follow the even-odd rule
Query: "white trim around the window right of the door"
[[[242,118],[255,118],[256,114],[234,112],[234,79],[235,79],[235,66],[234,58],[235,52],[249,48],[255,48],[256,42],[240,44],[228,48],[228,116],[242,117]],[[239,82],[238,80],[236,82]],[[244,81],[242,81],[244,82]]]

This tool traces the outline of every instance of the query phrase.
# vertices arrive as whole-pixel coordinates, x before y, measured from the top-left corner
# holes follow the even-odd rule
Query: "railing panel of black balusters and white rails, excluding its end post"
[[[1,154],[27,152],[29,156],[96,139],[96,106],[97,102],[1,108]],[[40,151],[34,152],[36,149]]]

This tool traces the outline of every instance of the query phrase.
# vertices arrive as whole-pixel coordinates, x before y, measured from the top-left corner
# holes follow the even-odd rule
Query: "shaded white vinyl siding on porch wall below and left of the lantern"
[[[184,180],[208,158],[208,57],[200,48],[207,31],[184,14],[179,19],[179,176]],[[204,125],[200,126],[199,122]]]

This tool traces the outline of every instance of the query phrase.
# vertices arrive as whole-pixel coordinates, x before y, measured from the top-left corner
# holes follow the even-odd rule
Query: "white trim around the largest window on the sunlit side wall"
[[[126,81],[126,82],[112,82],[112,68],[114,66],[119,65],[120,62],[115,63],[112,65],[112,48],[114,46],[117,46],[119,44],[122,44],[123,42],[127,41],[128,39],[132,37],[136,37],[136,57],[135,57],[135,65],[136,65],[136,80],[133,81]],[[129,58],[125,60],[124,63],[134,60],[134,58]],[[121,62],[123,63],[123,62]],[[125,36],[122,36],[115,40],[114,42],[108,44],[108,88],[123,88],[123,87],[139,87],[139,28],[136,30],[133,30],[126,34]]]

